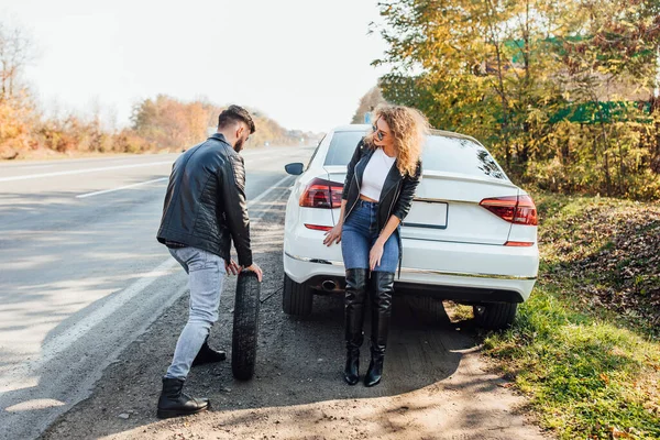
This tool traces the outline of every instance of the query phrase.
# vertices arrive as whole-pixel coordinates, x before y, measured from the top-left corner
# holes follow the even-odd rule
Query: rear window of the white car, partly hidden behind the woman
[[[348,165],[361,131],[336,132],[328,147],[324,165]],[[482,145],[468,139],[430,135],[421,155],[425,170],[490,176],[506,180],[506,174]]]

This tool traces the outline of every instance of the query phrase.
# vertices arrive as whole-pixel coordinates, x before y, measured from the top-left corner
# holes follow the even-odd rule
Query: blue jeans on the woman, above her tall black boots
[[[341,230],[341,253],[343,254],[344,267],[369,268],[369,253],[378,239],[378,205],[358,200],[358,204],[344,221]],[[399,243],[395,231],[383,246],[381,264],[374,272],[396,273],[399,257]]]

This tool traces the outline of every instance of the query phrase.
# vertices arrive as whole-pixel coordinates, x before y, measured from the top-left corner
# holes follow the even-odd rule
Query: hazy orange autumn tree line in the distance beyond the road
[[[87,114],[44,117],[22,82],[33,59],[33,43],[18,26],[0,22],[0,158],[15,158],[32,150],[58,153],[180,151],[215,131],[222,108],[206,100],[185,102],[160,95],[135,105],[132,127],[105,128],[100,109]],[[248,146],[294,144],[287,131],[258,111],[257,127]]]

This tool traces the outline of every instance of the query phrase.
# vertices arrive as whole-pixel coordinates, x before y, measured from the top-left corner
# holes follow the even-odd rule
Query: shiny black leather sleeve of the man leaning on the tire
[[[243,157],[238,154],[229,155],[222,166],[221,175],[220,185],[227,226],[239,254],[239,265],[248,267],[252,265],[252,250],[250,249],[250,218],[245,201]]]

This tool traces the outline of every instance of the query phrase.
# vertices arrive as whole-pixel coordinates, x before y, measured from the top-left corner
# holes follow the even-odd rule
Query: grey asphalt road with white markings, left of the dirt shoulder
[[[311,152],[244,152],[253,221]],[[0,164],[0,438],[37,437],[184,294],[155,240],[176,157]]]

